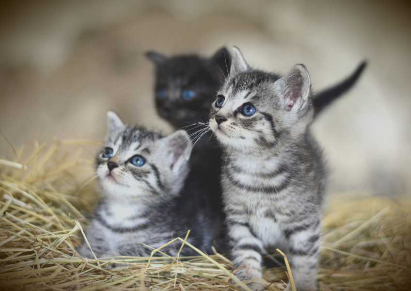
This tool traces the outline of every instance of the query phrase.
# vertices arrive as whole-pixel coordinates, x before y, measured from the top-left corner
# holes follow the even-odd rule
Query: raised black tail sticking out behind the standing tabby
[[[336,84],[335,86],[325,89],[318,94],[316,94],[313,98],[313,103],[314,103],[314,110],[315,110],[315,115],[318,116],[318,113],[322,112],[322,110],[330,105],[335,99],[346,93],[351,87],[357,82],[358,78],[361,76],[361,74],[364,71],[364,68],[366,67],[367,62],[363,61],[360,65],[358,65],[357,69],[354,71],[354,73],[349,76],[347,79],[344,81]]]

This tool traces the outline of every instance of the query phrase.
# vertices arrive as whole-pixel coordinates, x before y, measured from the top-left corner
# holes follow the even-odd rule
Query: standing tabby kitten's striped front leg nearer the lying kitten
[[[233,270],[236,270],[234,275],[241,281],[261,278],[262,242],[253,235],[245,217],[241,219],[227,214],[227,227]],[[256,282],[247,285],[253,290],[264,289]]]

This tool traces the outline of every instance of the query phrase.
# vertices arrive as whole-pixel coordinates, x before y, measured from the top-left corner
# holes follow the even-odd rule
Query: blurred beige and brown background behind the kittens
[[[313,125],[330,191],[411,194],[411,17],[407,1],[9,1],[0,12],[0,130],[14,147],[99,139],[106,112],[164,133],[148,49],[239,47],[254,67],[307,66],[321,90],[363,60],[357,85]],[[14,159],[0,134],[0,156]]]

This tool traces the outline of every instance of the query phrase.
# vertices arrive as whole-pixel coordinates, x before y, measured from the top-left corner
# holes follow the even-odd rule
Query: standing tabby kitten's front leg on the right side
[[[296,231],[289,237],[291,274],[298,291],[316,291],[320,228]]]

